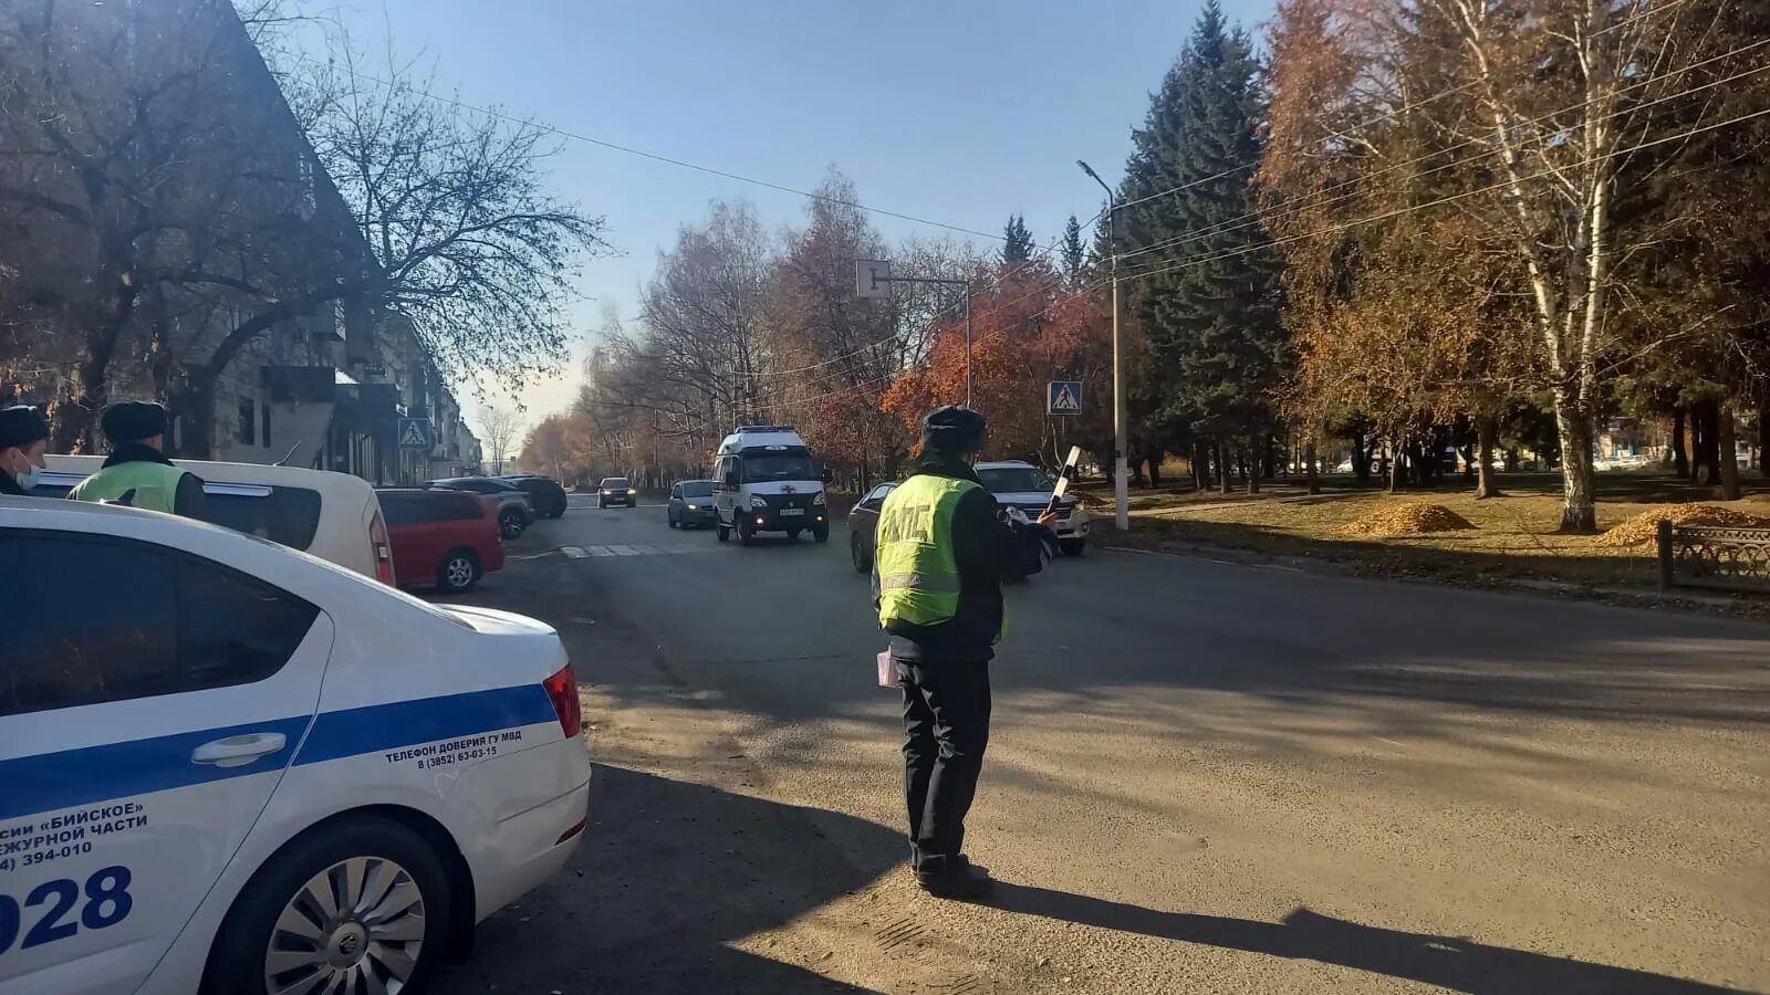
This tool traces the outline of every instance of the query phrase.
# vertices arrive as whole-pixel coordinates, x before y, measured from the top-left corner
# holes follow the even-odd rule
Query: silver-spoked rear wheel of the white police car
[[[216,935],[204,991],[418,990],[448,937],[442,864],[365,816],[301,837],[253,875]]]

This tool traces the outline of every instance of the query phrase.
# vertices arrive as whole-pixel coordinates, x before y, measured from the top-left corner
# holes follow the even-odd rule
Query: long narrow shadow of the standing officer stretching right
[[[1354,967],[1451,991],[1483,995],[1513,995],[1517,991],[1710,995],[1740,991],[1625,967],[1361,926],[1308,908],[1297,908],[1283,922],[1257,922],[1223,915],[1158,912],[1138,905],[1011,883],[997,885],[991,905],[1007,912],[1043,915],[1080,926]]]

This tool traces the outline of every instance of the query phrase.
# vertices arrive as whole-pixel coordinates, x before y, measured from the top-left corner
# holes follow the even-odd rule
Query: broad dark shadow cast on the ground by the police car
[[[866,887],[901,853],[896,832],[604,765],[591,820],[559,878],[487,919],[437,993],[867,991],[729,944]],[[857,852],[878,862],[857,868],[827,837],[837,834],[866,834]]]

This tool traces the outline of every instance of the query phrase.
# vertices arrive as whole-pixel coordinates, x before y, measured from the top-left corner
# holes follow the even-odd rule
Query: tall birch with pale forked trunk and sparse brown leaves
[[[1607,363],[1623,349],[1616,273],[1644,248],[1618,225],[1618,186],[1639,175],[1639,152],[1728,124],[1680,115],[1674,131],[1664,113],[1712,55],[1701,25],[1720,5],[1418,0],[1418,19],[1443,28],[1451,48],[1439,55],[1473,96],[1435,120],[1494,175],[1455,197],[1524,273],[1561,439],[1563,531],[1597,529],[1595,420]]]

